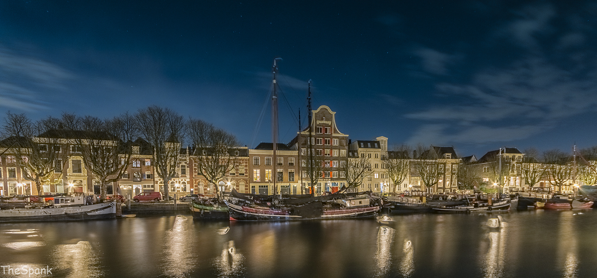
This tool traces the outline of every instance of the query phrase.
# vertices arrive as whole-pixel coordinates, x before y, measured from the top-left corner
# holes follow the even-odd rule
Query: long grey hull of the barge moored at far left
[[[116,217],[113,202],[40,209],[1,209],[0,223],[26,221],[95,220]]]

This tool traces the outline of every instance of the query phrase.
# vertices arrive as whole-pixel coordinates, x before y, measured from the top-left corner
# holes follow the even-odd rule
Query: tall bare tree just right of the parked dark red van
[[[139,109],[135,123],[141,138],[153,148],[155,171],[164,182],[164,198],[169,200],[168,183],[178,175],[176,169],[181,160],[180,146],[186,132],[186,121],[173,110],[154,105]]]

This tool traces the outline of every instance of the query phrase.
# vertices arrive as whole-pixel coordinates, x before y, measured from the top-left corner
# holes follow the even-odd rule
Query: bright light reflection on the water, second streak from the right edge
[[[490,246],[484,257],[484,277],[494,278],[504,276],[504,265],[506,264],[506,231],[507,223],[499,223],[500,230],[490,231],[487,237]],[[491,228],[491,226],[490,226]]]

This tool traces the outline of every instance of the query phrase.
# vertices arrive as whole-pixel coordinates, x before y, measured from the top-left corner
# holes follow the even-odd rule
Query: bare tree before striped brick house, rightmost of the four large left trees
[[[219,181],[241,163],[238,156],[241,144],[235,135],[199,119],[189,119],[187,130],[196,146],[193,155],[199,174],[216,187],[216,196],[219,198]]]

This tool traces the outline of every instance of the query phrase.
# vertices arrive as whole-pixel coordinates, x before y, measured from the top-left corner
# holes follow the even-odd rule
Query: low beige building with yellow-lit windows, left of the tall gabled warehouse
[[[260,143],[249,152],[250,193],[253,194],[300,194],[298,187],[298,151],[287,145],[276,145],[276,161],[273,161],[273,143]],[[277,192],[274,192],[273,181]]]

